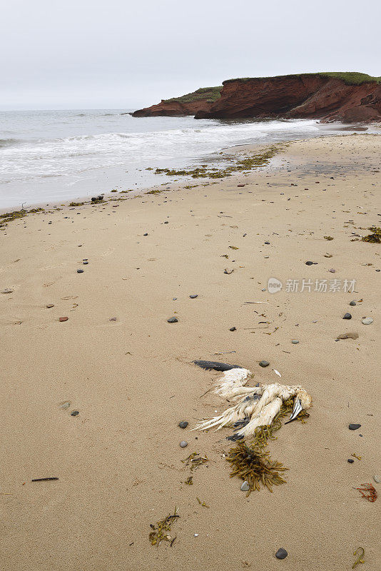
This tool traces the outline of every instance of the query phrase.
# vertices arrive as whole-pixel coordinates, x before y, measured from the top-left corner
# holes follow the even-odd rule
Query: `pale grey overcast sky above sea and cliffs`
[[[380,16],[380,0],[5,0],[0,108],[129,109],[233,77],[380,76]]]

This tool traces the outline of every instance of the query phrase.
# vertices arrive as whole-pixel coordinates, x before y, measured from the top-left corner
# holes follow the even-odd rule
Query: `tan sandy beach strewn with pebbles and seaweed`
[[[298,141],[248,176],[1,231],[0,290],[14,290],[0,294],[1,570],[343,571],[359,546],[361,569],[380,570],[381,497],[354,488],[381,473],[381,246],[352,241],[380,226],[380,151],[375,135]],[[283,290],[268,293],[270,277]],[[303,278],[355,279],[355,293],[285,290]],[[346,331],[359,338],[335,341]],[[227,405],[203,394],[220,373],[198,358],[250,368],[253,383],[279,380],[275,368],[313,395],[308,423],[270,443],[290,468],[273,494],[247,498],[229,478],[230,429],[178,428]],[[210,462],[188,486],[193,451]],[[46,476],[59,480],[31,482]],[[176,541],[151,546],[150,524],[175,506]]]

